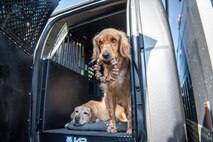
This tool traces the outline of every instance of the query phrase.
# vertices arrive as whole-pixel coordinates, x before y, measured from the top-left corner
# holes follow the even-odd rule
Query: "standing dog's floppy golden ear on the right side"
[[[119,49],[119,52],[120,52],[121,56],[130,59],[131,58],[130,57],[130,45],[129,45],[127,36],[122,31],[119,31],[119,34],[120,34],[120,49]]]

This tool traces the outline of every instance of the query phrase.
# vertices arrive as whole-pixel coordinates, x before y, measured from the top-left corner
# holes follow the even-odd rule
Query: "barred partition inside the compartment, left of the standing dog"
[[[71,32],[67,34],[53,56],[52,61],[85,76],[89,80],[90,95],[100,99],[102,97],[99,81],[95,79],[93,64],[90,64],[91,55],[88,54],[88,43],[77,38]],[[50,51],[50,54],[53,50]]]

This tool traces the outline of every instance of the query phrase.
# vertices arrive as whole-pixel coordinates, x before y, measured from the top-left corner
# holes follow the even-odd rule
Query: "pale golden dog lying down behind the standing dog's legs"
[[[94,100],[76,107],[71,113],[70,117],[76,126],[81,126],[86,123],[109,120],[109,114],[104,101]],[[116,107],[116,120],[119,122],[127,121],[124,109],[119,105]]]

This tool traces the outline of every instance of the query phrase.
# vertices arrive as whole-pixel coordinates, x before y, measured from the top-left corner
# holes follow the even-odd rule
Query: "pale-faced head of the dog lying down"
[[[94,112],[91,108],[82,105],[76,107],[70,117],[74,125],[81,126],[86,123],[95,121],[95,115],[93,113]]]

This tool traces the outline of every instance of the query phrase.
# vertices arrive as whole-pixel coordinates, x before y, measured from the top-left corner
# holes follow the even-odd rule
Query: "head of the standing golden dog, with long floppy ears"
[[[108,28],[93,38],[92,61],[99,59],[108,63],[120,57],[130,59],[130,45],[124,32]]]

